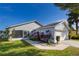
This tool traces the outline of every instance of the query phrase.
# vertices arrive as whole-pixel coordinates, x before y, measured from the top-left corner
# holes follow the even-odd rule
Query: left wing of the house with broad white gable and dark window
[[[27,38],[27,35],[29,35],[31,31],[39,27],[42,27],[42,25],[37,21],[10,26],[7,28],[9,30],[9,40],[21,40]]]

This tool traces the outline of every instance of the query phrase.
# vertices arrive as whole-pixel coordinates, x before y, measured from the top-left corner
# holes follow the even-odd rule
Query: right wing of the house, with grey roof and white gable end
[[[48,31],[51,33],[51,41],[56,43],[68,39],[68,23],[67,21],[60,21],[46,26],[42,26],[35,30],[39,33],[46,34]]]

